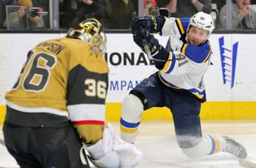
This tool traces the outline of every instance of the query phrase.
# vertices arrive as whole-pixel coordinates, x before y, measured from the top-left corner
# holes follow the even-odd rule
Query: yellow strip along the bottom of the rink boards
[[[256,102],[206,102],[202,104],[202,120],[253,120],[256,119]],[[122,103],[106,104],[106,121],[119,121]],[[0,124],[3,123],[5,106],[0,106]],[[142,121],[172,120],[166,107],[154,107],[142,113]]]

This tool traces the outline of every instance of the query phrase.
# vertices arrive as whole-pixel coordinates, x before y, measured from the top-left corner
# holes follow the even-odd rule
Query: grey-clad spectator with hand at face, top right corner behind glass
[[[256,29],[256,11],[250,7],[250,0],[235,0],[231,3],[231,29],[236,30],[255,30]],[[223,6],[220,15],[220,28],[227,27],[227,5]]]

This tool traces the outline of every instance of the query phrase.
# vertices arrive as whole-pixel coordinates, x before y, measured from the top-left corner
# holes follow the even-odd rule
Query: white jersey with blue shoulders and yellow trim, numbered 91
[[[199,46],[186,41],[189,18],[169,18],[165,21],[162,36],[170,36],[166,50],[170,52],[159,78],[164,85],[176,89],[186,89],[202,99],[205,95],[204,74],[210,64],[212,48],[209,40]],[[179,58],[179,60],[174,60]]]

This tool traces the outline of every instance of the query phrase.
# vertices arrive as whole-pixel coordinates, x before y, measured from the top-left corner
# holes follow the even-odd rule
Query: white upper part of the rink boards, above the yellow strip
[[[21,70],[29,49],[43,40],[63,37],[64,34],[43,33],[0,33],[0,105],[5,104],[4,94],[9,90]],[[159,43],[166,45],[167,37],[160,37]],[[234,78],[234,87],[230,83],[223,85],[222,66],[219,39],[223,37],[225,48],[232,53],[233,45],[238,42],[237,60]],[[254,45],[256,35],[253,34],[213,34],[210,41],[213,55],[209,70],[206,72],[204,81],[208,101],[255,101],[256,100],[256,48]],[[147,56],[143,55],[140,48],[135,45],[132,35],[129,33],[107,34],[107,61],[110,68],[109,91],[107,103],[121,103],[129,91],[138,82],[157,71],[154,65],[150,65]],[[231,55],[227,53],[227,55]],[[226,53],[225,53],[226,54]],[[134,63],[125,61],[124,57]]]

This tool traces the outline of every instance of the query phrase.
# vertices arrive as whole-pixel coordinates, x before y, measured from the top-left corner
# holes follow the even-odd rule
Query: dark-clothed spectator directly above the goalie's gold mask
[[[107,20],[110,19],[111,15],[109,0],[79,0],[77,7],[78,10],[71,22],[71,27],[75,27],[82,20],[95,18],[102,23],[103,28],[108,28]]]

